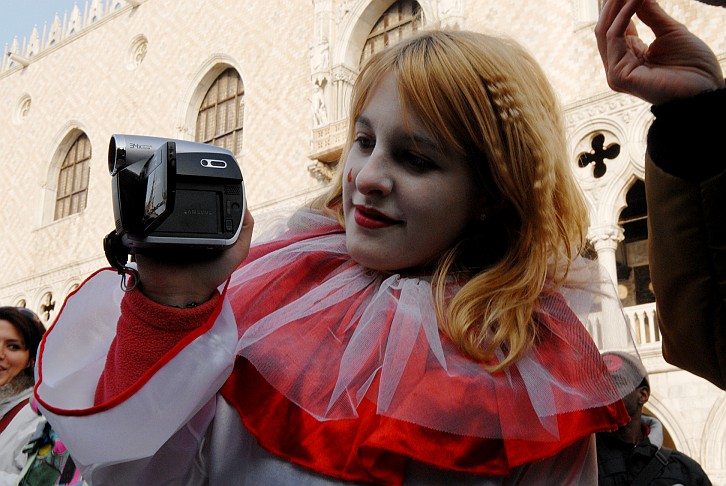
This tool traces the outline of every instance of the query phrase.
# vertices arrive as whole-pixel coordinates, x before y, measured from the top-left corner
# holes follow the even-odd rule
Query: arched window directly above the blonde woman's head
[[[386,10],[366,39],[360,63],[390,44],[411,36],[423,27],[423,10],[414,0],[398,0]]]

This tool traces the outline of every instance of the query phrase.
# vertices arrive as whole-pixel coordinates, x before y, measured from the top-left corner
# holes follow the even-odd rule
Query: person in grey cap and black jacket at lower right
[[[682,452],[663,447],[663,426],[643,413],[650,398],[648,374],[638,358],[624,352],[603,353],[613,380],[623,391],[630,422],[614,432],[597,433],[599,486],[710,486],[701,466]],[[640,376],[635,384],[633,377]],[[635,386],[635,388],[633,388]]]

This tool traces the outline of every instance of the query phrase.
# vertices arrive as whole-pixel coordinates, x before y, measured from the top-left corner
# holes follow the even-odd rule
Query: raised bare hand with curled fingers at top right
[[[655,34],[647,45],[633,15]],[[608,85],[651,104],[724,87],[713,51],[655,0],[607,0],[595,26]]]

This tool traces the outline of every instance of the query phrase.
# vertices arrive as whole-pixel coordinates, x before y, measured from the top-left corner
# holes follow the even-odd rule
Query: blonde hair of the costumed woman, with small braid
[[[537,62],[513,41],[424,32],[362,69],[341,161],[351,149],[354,121],[390,73],[402,103],[441,146],[470,164],[489,201],[478,234],[439,259],[433,287],[441,331],[491,371],[503,369],[536,338],[545,279],[561,283],[584,247],[587,209],[568,163],[557,97]],[[343,165],[317,204],[341,225]],[[450,297],[447,282],[462,270],[471,278]]]

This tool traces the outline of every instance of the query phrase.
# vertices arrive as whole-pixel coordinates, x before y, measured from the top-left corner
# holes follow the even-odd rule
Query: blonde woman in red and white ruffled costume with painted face
[[[328,194],[251,250],[248,214],[217,259],[141,253],[125,295],[93,275],[38,403],[90,484],[594,484],[628,416],[583,319],[610,297],[628,327],[567,147],[515,42],[403,40],[361,70]]]

